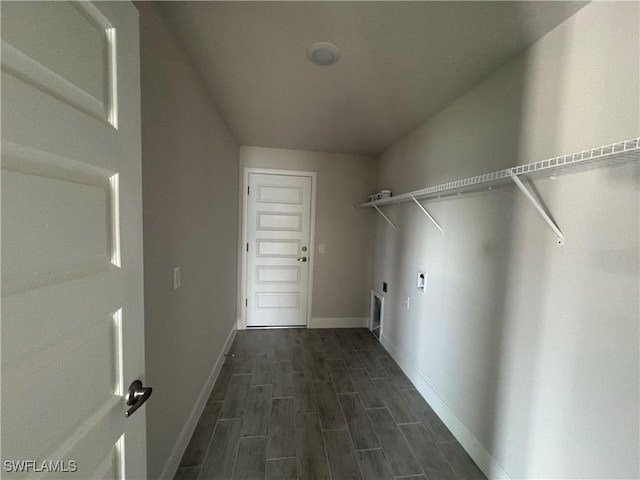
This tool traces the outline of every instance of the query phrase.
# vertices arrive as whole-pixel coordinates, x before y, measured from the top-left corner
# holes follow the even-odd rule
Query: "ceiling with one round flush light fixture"
[[[241,145],[376,154],[585,2],[161,2]],[[306,57],[319,41],[340,60]]]

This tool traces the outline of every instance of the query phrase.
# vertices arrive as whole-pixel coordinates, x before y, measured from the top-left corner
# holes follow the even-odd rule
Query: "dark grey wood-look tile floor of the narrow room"
[[[485,479],[367,329],[238,332],[176,480]]]

